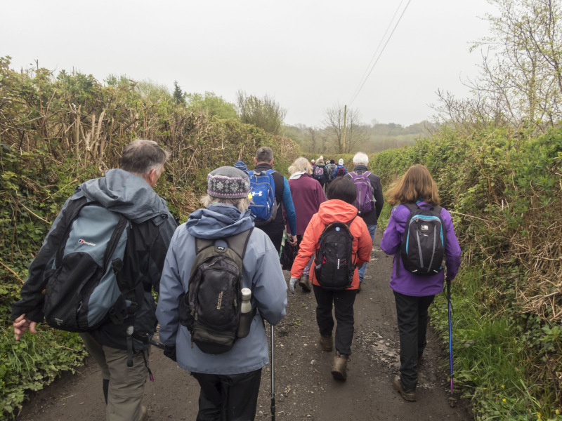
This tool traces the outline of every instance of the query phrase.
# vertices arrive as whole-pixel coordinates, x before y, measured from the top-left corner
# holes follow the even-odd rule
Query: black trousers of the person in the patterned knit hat
[[[199,382],[197,421],[251,421],[256,417],[261,368],[242,374],[191,373]]]

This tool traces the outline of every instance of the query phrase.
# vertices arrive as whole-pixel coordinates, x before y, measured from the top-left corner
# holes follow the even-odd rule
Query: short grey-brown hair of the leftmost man
[[[120,168],[145,177],[150,171],[162,168],[169,157],[170,153],[159,147],[154,140],[137,139],[124,147]]]

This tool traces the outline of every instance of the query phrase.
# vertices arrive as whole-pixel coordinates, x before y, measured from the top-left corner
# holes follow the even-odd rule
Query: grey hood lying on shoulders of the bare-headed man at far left
[[[166,201],[148,182],[119,168],[105,171],[105,177],[88,180],[78,189],[90,201],[98,201],[103,207],[136,223],[168,213]]]

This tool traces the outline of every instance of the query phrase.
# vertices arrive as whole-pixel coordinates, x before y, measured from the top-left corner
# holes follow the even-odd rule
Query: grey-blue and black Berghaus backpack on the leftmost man
[[[72,201],[57,227],[53,264],[46,270],[46,323],[70,332],[89,332],[111,319],[123,323],[143,300],[140,280],[123,272],[131,222],[96,201]]]

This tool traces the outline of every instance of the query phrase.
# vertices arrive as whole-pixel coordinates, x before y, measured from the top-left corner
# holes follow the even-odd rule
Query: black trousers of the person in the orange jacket
[[[353,340],[353,303],[357,297],[357,290],[327,290],[313,285],[316,298],[316,322],[320,335],[332,335],[334,318],[332,304],[336,314],[336,351],[343,355],[351,355],[351,341]]]

